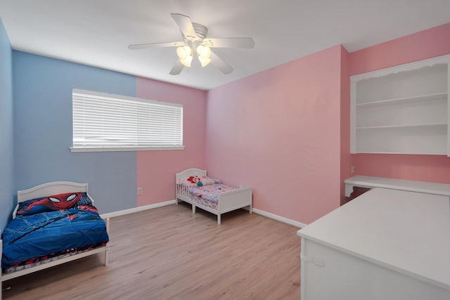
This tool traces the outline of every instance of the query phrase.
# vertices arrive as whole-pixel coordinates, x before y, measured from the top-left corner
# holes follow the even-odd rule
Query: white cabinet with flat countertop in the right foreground
[[[448,196],[373,188],[297,234],[302,300],[450,299]]]

